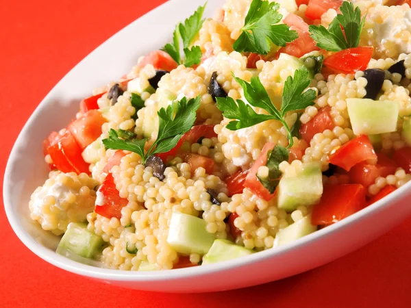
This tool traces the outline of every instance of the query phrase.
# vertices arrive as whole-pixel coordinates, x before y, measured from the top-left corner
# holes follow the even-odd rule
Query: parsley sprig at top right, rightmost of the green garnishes
[[[318,47],[327,51],[358,47],[365,16],[361,19],[360,8],[354,9],[353,3],[347,1],[344,1],[340,10],[341,14],[334,18],[328,29],[322,25],[310,25],[310,36],[317,42]]]

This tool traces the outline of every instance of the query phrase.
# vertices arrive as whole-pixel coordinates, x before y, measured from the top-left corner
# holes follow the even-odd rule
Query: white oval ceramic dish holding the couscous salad
[[[71,70],[45,97],[14,144],[5,170],[5,212],[18,238],[45,261],[77,274],[139,290],[210,292],[275,281],[321,266],[374,240],[411,214],[411,183],[370,207],[292,244],[233,261],[160,272],[125,272],[76,263],[54,251],[58,238],[29,219],[32,191],[47,177],[42,140],[50,131],[66,126],[78,102],[93,88],[118,79],[140,55],[158,49],[204,0],[173,0],[142,16]],[[222,5],[208,0],[206,16]],[[171,14],[172,13],[172,14]],[[120,49],[116,48],[121,46]]]

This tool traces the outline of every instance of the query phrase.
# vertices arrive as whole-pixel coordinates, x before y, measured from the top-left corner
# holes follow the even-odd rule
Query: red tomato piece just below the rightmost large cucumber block
[[[329,162],[349,171],[353,166],[367,159],[376,159],[373,144],[368,136],[361,135],[340,146],[329,155]]]

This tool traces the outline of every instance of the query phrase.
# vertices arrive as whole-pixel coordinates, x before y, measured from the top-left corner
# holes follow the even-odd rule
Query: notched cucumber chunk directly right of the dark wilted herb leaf
[[[323,174],[318,163],[304,164],[297,177],[282,177],[277,187],[279,209],[291,212],[317,203],[323,194]]]

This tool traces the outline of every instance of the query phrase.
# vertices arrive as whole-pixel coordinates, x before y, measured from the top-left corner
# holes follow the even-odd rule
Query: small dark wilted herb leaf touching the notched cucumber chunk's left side
[[[275,188],[277,188],[279,178],[282,175],[282,172],[279,170],[279,164],[285,160],[288,161],[288,150],[280,144],[275,144],[274,149],[267,152],[266,167],[269,168],[269,177],[262,179],[257,175],[257,178],[270,194],[273,194]]]

